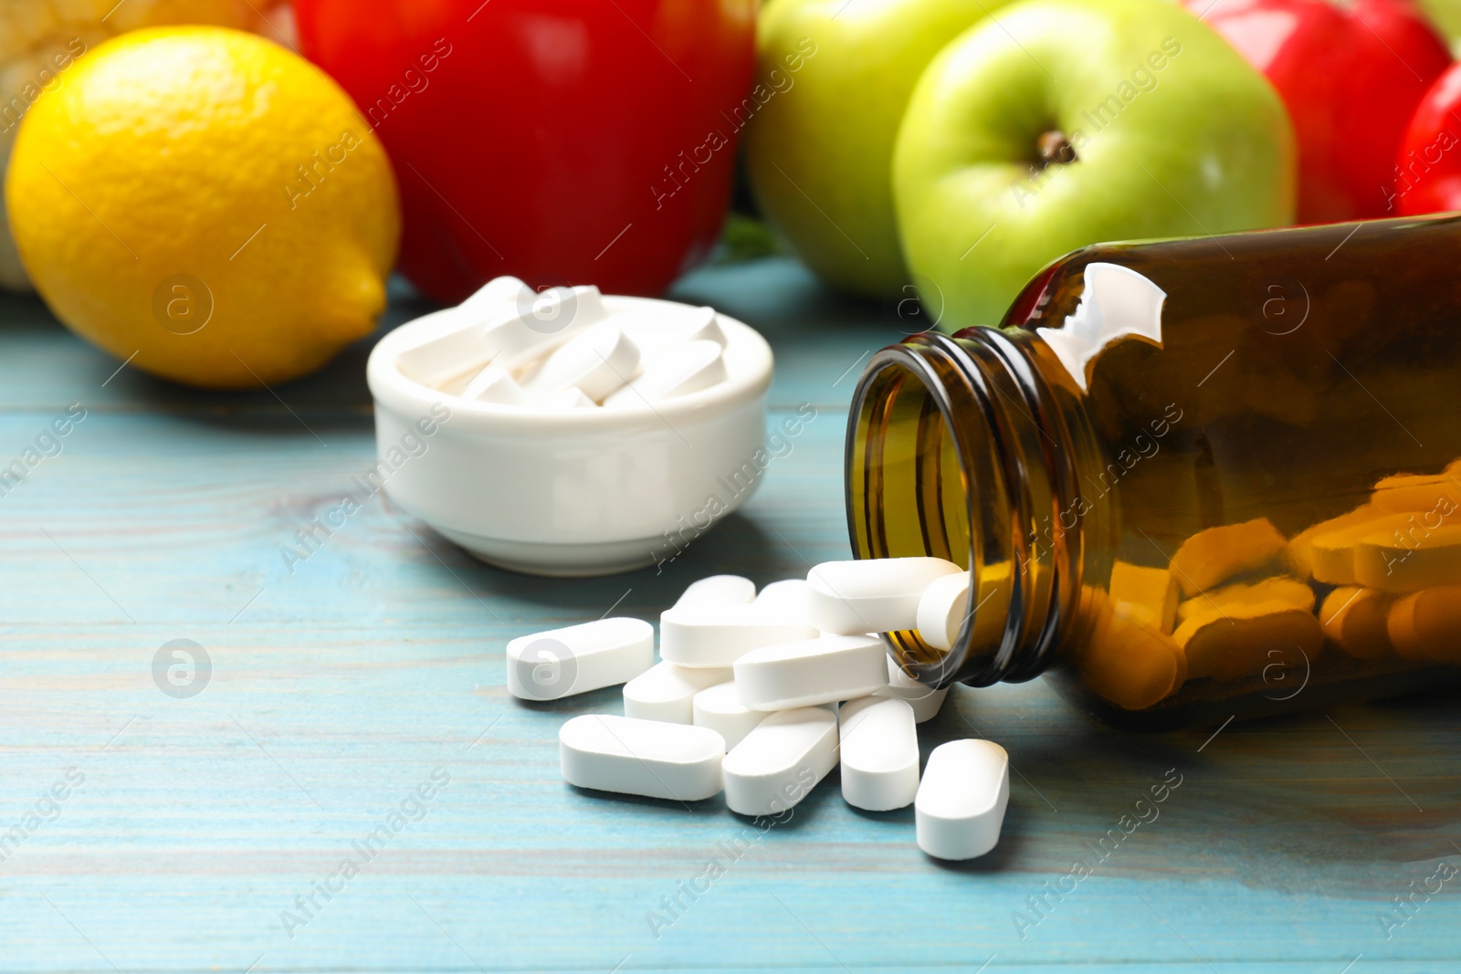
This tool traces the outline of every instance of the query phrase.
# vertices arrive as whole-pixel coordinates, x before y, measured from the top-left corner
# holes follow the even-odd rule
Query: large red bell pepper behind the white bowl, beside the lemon
[[[653,295],[720,232],[755,0],[295,0],[400,184],[400,269]],[[288,96],[282,93],[281,96]]]

